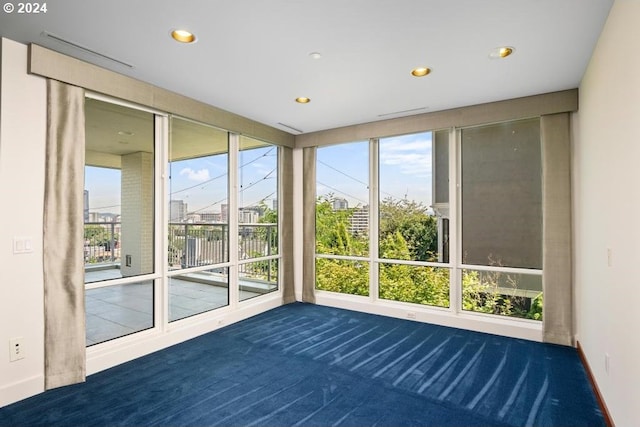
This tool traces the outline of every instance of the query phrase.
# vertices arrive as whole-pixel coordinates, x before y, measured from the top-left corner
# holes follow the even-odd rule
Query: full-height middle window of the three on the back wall
[[[448,131],[378,144],[378,293],[449,307]]]

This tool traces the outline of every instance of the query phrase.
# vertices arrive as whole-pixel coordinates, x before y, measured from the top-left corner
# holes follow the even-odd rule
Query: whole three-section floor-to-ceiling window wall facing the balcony
[[[279,290],[278,146],[94,95],[85,105],[87,345]]]

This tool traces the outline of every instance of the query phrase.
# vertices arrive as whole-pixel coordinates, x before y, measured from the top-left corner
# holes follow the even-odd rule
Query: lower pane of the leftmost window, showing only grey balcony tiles
[[[153,281],[87,289],[87,346],[153,328]]]

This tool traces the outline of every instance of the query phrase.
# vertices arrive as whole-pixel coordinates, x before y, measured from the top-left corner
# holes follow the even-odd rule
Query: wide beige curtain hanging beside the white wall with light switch
[[[84,90],[48,80],[44,195],[45,388],[85,380]]]

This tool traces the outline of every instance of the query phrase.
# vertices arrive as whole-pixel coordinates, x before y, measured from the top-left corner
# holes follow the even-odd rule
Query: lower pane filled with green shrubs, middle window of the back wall
[[[380,264],[381,299],[449,307],[449,269],[407,264]]]

